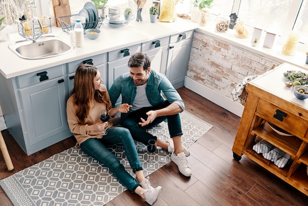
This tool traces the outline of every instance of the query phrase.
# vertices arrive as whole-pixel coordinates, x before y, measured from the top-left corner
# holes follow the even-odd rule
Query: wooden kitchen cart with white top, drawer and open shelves
[[[244,154],[266,170],[308,195],[308,99],[298,100],[293,87],[286,87],[283,72],[308,70],[284,63],[251,80],[248,97],[233,144],[233,158]],[[278,135],[268,122],[294,136]],[[278,168],[255,152],[252,147],[260,139],[291,156],[289,164]]]

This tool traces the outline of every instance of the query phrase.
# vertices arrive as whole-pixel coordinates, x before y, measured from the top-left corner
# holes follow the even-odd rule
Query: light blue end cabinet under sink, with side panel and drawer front
[[[28,155],[71,136],[65,112],[65,69],[59,65],[9,79],[0,75],[7,130]]]

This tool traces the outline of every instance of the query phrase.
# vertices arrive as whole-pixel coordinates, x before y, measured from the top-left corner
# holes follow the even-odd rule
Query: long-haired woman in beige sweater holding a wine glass
[[[110,116],[113,117],[117,112],[127,112],[130,105],[121,104],[117,108],[112,108],[107,88],[101,83],[100,72],[94,66],[85,64],[77,68],[74,89],[66,103],[69,129],[86,154],[109,167],[123,186],[152,205],[161,187],[153,188],[149,178],[144,177],[130,132],[122,127],[112,127],[112,121],[103,123],[99,119],[99,111],[104,107],[110,110]],[[104,136],[100,135],[103,129],[107,131]],[[118,158],[106,147],[119,142],[123,143],[126,157],[136,174],[136,179],[125,171]]]

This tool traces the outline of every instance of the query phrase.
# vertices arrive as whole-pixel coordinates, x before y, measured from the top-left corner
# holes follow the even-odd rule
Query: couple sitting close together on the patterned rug
[[[151,60],[146,54],[133,54],[128,61],[128,68],[130,71],[119,76],[108,92],[97,68],[80,65],[76,70],[72,95],[67,100],[67,121],[70,131],[86,154],[109,167],[123,186],[152,205],[161,187],[153,188],[149,177],[145,178],[133,139],[145,145],[150,139],[156,140],[156,146],[171,153],[171,160],[179,171],[190,176],[191,169],[186,160],[189,151],[182,146],[179,115],[184,110],[184,102],[165,75],[151,70]],[[120,95],[122,104],[113,108]],[[102,122],[99,118],[102,108],[110,110],[110,117],[121,112],[122,127],[114,127],[112,121]],[[172,139],[163,141],[146,132],[146,128],[165,119]],[[107,132],[106,135],[101,135],[102,130]],[[136,178],[125,171],[118,158],[106,147],[119,142],[123,143]]]

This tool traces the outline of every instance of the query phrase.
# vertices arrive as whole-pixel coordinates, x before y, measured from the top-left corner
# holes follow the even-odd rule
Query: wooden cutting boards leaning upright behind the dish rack
[[[56,17],[71,15],[69,1],[68,0],[52,0],[52,2],[53,2],[54,14],[55,14],[56,26],[61,27]],[[69,18],[65,19],[64,22],[70,25]]]

